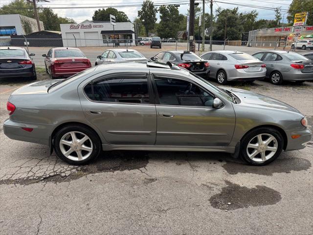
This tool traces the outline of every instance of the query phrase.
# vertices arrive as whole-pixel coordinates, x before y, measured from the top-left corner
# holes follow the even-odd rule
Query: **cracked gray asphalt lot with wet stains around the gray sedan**
[[[0,78],[1,235],[312,234],[313,141],[262,167],[223,153],[148,151],[68,165],[47,146],[3,134],[7,99],[27,83]],[[230,85],[294,106],[312,129],[312,82]]]

